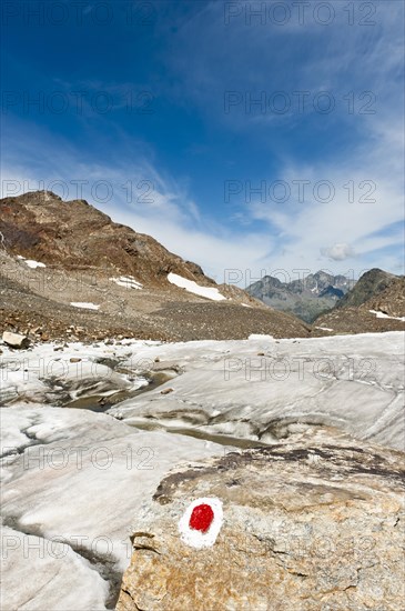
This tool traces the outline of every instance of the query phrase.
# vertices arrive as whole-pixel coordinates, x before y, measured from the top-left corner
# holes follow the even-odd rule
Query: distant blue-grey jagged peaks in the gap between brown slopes
[[[246,292],[271,308],[312,322],[321,312],[336,306],[353,284],[354,281],[344,276],[318,271],[291,282],[265,276],[247,287]]]

